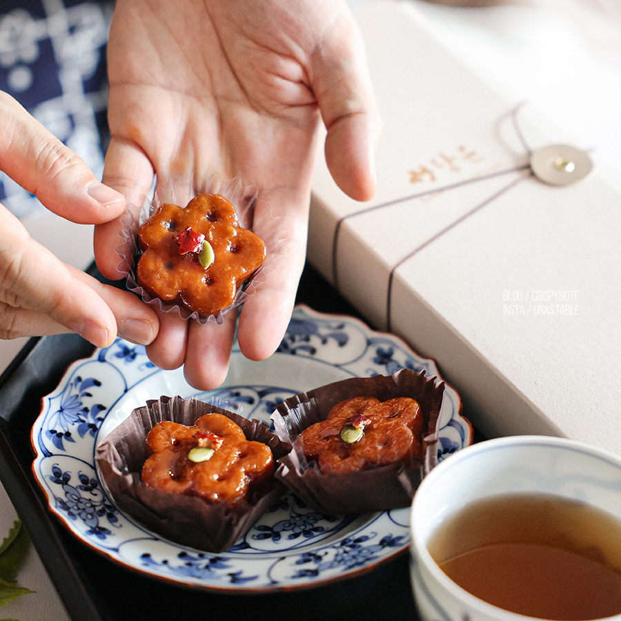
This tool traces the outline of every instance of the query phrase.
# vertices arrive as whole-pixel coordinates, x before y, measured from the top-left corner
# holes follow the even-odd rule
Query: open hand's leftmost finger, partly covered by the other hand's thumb
[[[137,215],[153,183],[153,168],[144,151],[128,141],[112,139],[106,152],[103,180],[127,198],[128,210]],[[128,257],[121,248],[121,219],[123,216],[95,226],[93,245],[99,271],[112,280],[123,275],[119,270],[121,257]],[[117,253],[121,253],[121,257]],[[129,260],[128,258],[126,260]]]

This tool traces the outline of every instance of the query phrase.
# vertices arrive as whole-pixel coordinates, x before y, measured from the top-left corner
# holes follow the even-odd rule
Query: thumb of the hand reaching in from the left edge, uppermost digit
[[[0,170],[49,210],[80,224],[108,221],[125,208],[123,195],[101,184],[80,157],[4,92]]]

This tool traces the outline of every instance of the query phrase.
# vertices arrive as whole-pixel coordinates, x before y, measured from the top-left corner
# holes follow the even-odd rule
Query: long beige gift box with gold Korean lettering
[[[410,3],[356,17],[384,119],[378,191],[349,199],[320,158],[309,260],[435,358],[484,434],[621,453],[621,195],[596,154],[575,184],[533,176],[531,152],[566,137],[475,77]]]

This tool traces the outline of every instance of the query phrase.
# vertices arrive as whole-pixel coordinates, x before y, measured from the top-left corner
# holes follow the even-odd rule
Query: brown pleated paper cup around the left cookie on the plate
[[[246,500],[234,506],[210,503],[188,495],[171,494],[141,484],[148,457],[146,436],[158,422],[172,420],[193,426],[202,415],[224,414],[238,424],[246,439],[263,442],[274,459],[284,456],[288,444],[270,433],[268,425],[194,399],[161,397],[135,409],[97,446],[101,476],[121,511],[162,537],[198,550],[219,553],[229,549],[250,529],[285,488],[270,477],[250,489]]]

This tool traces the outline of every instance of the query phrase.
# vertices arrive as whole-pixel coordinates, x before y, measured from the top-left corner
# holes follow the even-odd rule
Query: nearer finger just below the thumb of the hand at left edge
[[[0,302],[5,308],[3,329],[10,335],[49,333],[50,323],[37,326],[37,317],[19,309],[37,311],[69,331],[77,332],[98,347],[115,339],[115,317],[103,299],[47,248],[34,241],[19,220],[0,210]],[[34,323],[33,323],[34,322]]]

